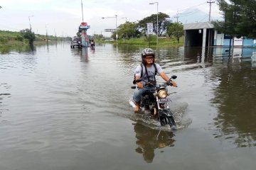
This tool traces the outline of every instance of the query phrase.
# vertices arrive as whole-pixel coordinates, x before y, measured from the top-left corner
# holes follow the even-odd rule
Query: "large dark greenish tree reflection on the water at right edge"
[[[246,57],[225,60],[215,70],[219,86],[212,102],[218,108],[215,137],[238,147],[256,146],[256,69]]]

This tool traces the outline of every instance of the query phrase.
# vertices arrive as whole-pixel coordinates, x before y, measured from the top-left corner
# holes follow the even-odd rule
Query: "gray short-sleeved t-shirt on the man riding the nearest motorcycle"
[[[155,63],[156,64],[156,63]],[[141,77],[141,74],[142,74],[142,67],[143,67],[143,75]],[[146,84],[146,82],[148,81],[148,78],[146,76],[146,69],[147,69],[147,72],[149,74],[149,80],[152,80],[154,81],[154,77],[155,77],[155,67],[154,67],[154,64],[151,64],[151,67],[146,67],[145,69],[145,66],[144,64],[142,64],[142,67],[141,67],[141,64],[139,64],[137,66],[137,68],[135,69],[135,76],[139,76],[141,77],[142,79],[142,84]],[[156,64],[156,69],[157,69],[157,73],[160,74],[161,72],[163,72],[163,69],[161,69],[161,66],[159,64]]]

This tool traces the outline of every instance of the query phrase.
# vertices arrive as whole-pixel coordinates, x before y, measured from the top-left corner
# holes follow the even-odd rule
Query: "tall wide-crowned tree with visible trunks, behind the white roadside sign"
[[[152,14],[151,16],[143,18],[141,21],[139,21],[138,28],[142,32],[146,33],[146,28],[147,28],[146,23],[153,23],[153,32],[156,34],[156,28],[158,27],[158,35],[161,36],[166,31],[169,23],[171,23],[171,21],[168,18],[170,18],[169,15],[167,15],[166,13],[160,12],[158,14],[159,22],[158,24],[156,24],[157,15]]]

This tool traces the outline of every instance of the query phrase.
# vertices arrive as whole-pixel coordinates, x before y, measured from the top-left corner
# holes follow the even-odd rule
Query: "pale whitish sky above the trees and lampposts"
[[[90,26],[88,35],[110,36],[105,29],[116,27],[115,15],[117,26],[125,21],[140,21],[157,11],[166,13],[172,21],[178,16],[182,23],[206,22],[209,11],[211,19],[220,18],[217,2],[210,10],[207,1],[210,0],[0,0],[0,30],[19,31],[31,26],[36,34],[46,35],[47,31],[48,35],[73,37],[83,21]],[[158,7],[149,4],[153,2],[158,2]],[[205,15],[198,16],[197,10]]]

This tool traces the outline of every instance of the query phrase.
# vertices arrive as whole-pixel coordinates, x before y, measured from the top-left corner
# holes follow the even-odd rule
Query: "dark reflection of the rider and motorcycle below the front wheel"
[[[146,162],[153,162],[155,150],[164,147],[174,147],[174,133],[161,130],[153,130],[140,123],[135,123],[134,132],[136,133],[135,151],[143,155]]]

